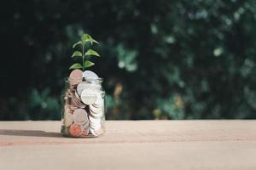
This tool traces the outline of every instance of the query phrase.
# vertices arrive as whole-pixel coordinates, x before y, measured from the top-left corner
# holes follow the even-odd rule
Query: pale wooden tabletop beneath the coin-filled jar
[[[0,122],[0,169],[256,169],[256,121],[108,121],[96,139],[61,122]]]

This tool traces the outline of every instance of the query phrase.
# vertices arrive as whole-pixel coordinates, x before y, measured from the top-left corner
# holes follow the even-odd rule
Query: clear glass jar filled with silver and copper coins
[[[105,131],[105,92],[102,78],[68,78],[61,96],[61,134],[66,137],[98,137]]]

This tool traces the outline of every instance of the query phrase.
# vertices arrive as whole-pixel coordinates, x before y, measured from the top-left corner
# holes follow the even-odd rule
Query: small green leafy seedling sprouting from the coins
[[[85,68],[89,68],[92,65],[95,65],[93,62],[89,60],[90,56],[94,55],[97,57],[100,57],[100,54],[98,54],[95,50],[91,49],[90,47],[87,49],[85,52],[85,44],[86,42],[90,42],[90,46],[93,45],[93,43],[99,43],[92,37],[90,37],[89,34],[83,34],[81,36],[81,40],[79,42],[76,42],[73,44],[73,48],[76,48],[77,46],[80,46],[80,51],[76,50],[73,52],[73,55],[71,56],[72,58],[74,57],[80,57],[82,58],[82,64],[80,63],[75,63],[69,67],[69,69],[82,69],[84,71]],[[84,61],[84,59],[86,59]]]

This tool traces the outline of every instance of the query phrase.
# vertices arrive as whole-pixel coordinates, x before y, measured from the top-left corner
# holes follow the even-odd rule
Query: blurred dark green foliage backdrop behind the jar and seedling
[[[9,0],[1,18],[1,120],[61,119],[84,32],[107,119],[256,118],[254,0]]]

